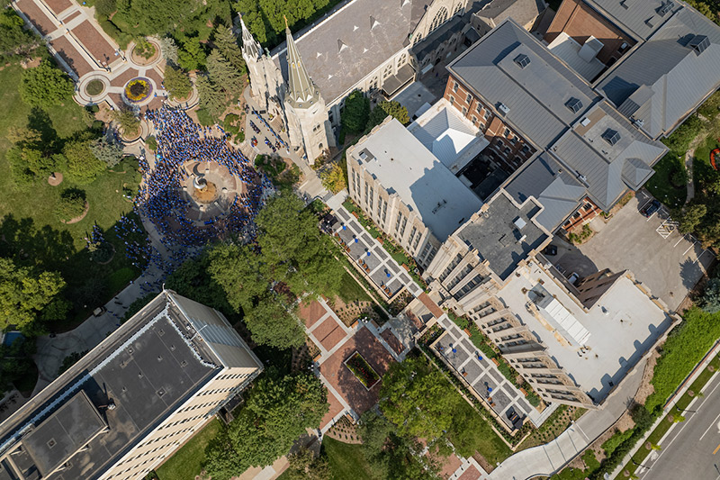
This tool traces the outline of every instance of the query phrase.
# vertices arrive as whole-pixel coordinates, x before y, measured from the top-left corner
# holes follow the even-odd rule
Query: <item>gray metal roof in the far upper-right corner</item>
[[[697,34],[709,46],[689,46]],[[628,118],[642,121],[651,137],[668,135],[720,86],[720,27],[691,8],[680,12],[599,83]]]

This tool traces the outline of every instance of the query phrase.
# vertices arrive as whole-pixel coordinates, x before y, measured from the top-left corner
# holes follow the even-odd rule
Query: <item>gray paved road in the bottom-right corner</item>
[[[707,383],[703,397],[685,412],[686,420],[674,425],[662,439],[662,450],[644,461],[641,479],[720,478],[720,375]],[[641,447],[643,448],[643,447]],[[654,457],[650,459],[650,457]],[[643,469],[640,467],[640,469]]]

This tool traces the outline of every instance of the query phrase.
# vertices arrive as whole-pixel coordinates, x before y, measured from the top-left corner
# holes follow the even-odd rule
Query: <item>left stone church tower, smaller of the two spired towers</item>
[[[252,96],[258,99],[267,111],[275,111],[274,113],[278,114],[284,103],[283,74],[273,59],[263,52],[263,48],[253,34],[247,30],[242,16],[240,16],[240,25],[242,26],[242,57],[247,64]],[[282,113],[280,114],[282,116]]]

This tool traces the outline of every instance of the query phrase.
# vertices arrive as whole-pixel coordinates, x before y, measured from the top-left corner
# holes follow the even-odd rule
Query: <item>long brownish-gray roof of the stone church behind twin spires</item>
[[[409,42],[431,0],[353,0],[302,32],[295,43],[320,94],[330,104]],[[375,22],[371,21],[371,17]],[[374,27],[373,27],[374,23]],[[345,47],[340,51],[338,41]],[[285,44],[274,50],[287,78]]]

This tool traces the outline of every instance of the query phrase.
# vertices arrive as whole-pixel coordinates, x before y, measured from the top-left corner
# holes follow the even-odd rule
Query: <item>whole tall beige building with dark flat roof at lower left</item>
[[[0,424],[0,478],[144,478],[262,368],[220,312],[165,291]]]

